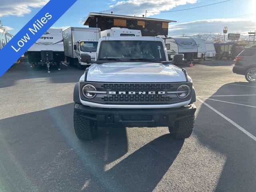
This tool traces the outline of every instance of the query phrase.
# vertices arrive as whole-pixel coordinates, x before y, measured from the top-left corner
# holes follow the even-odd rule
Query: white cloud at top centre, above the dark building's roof
[[[193,4],[198,0],[121,0],[113,1],[114,4],[109,6],[108,10],[104,10],[104,13],[110,13],[130,16],[142,16],[147,10],[147,16],[159,14],[159,11],[168,11],[176,6]],[[155,12],[155,13],[150,13]]]

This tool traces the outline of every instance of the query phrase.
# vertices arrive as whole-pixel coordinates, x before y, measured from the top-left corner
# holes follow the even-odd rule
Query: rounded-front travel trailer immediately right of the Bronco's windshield
[[[175,54],[184,54],[186,61],[197,58],[198,47],[196,42],[189,37],[167,37],[164,38],[169,60],[172,60]]]

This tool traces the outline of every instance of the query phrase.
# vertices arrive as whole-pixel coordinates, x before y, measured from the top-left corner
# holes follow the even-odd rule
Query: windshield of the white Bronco
[[[98,59],[166,61],[162,42],[138,40],[103,41]]]

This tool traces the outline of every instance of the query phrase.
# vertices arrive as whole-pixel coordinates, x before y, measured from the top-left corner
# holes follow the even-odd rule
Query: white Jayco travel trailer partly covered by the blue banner
[[[56,28],[48,29],[27,52],[28,62],[31,66],[47,65],[50,72],[50,64],[57,65],[65,60],[62,30]]]

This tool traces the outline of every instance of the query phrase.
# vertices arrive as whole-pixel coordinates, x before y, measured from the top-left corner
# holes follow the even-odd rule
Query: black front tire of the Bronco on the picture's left
[[[96,122],[88,120],[82,116],[86,114],[74,111],[74,128],[76,136],[81,140],[92,140],[98,132]]]

